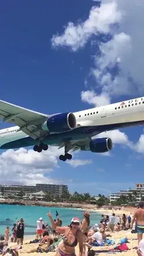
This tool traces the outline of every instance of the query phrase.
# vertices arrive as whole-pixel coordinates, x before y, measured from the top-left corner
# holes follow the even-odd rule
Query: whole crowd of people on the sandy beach
[[[97,248],[105,244],[115,244],[112,239],[113,232],[132,229],[135,223],[135,229],[132,229],[131,233],[137,233],[137,254],[138,256],[144,256],[144,239],[142,238],[144,233],[144,205],[142,202],[132,216],[126,216],[124,213],[122,217],[115,216],[114,212],[110,216],[102,214],[100,223],[96,223],[93,226],[90,226],[90,212],[88,210],[84,212],[81,221],[78,217],[73,217],[70,225],[65,226],[62,225],[62,219],[60,219],[59,214],[56,215],[56,219],[52,218],[51,212],[47,216],[50,224],[47,223],[48,221],[43,221],[42,217],[37,220],[36,238],[30,243],[38,243],[38,246],[36,249],[27,251],[27,253],[43,253],[57,248],[56,256],[75,256],[75,247],[79,244],[79,256],[85,256],[87,254],[86,251],[88,251],[89,256],[93,256],[95,252],[92,247]],[[11,242],[17,242],[18,245],[22,245],[24,229],[24,220],[20,219],[12,228]],[[3,255],[5,255],[8,241],[9,227],[6,228],[5,237],[1,237],[0,241],[0,252]],[[127,238],[123,238],[119,245],[117,244],[115,250],[128,250],[127,242]]]

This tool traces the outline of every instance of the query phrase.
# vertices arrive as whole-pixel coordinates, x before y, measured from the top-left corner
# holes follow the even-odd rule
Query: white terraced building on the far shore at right
[[[118,193],[112,193],[109,195],[109,201],[114,202],[117,201],[122,195],[125,197],[132,197],[135,201],[141,201],[144,198],[144,184],[135,184],[135,189],[131,189],[130,187],[127,190],[120,190]]]

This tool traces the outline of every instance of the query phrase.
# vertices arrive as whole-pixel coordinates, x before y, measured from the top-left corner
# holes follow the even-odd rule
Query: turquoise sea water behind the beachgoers
[[[62,225],[69,225],[73,217],[79,217],[82,220],[84,210],[71,208],[53,208],[42,206],[21,206],[21,205],[0,205],[0,234],[5,233],[5,228],[10,227],[12,230],[13,224],[21,218],[25,221],[25,235],[36,234],[36,221],[43,217],[44,221],[50,224],[47,213],[51,210],[53,219],[55,219],[55,210],[58,211],[62,219]],[[90,213],[90,225],[94,225],[100,221],[101,214]],[[6,220],[10,219],[10,220]]]

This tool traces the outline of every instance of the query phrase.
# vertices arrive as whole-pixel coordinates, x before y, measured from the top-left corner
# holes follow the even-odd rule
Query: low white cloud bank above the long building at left
[[[36,183],[60,183],[47,176],[58,167],[60,150],[50,147],[41,153],[24,148],[9,149],[0,155],[0,180],[6,184],[35,185]]]

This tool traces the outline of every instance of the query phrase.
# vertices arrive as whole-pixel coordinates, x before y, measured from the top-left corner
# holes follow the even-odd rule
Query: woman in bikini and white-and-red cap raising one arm
[[[56,251],[56,256],[76,256],[75,246],[77,246],[77,243],[79,243],[79,256],[82,256],[83,238],[82,232],[79,230],[79,219],[74,217],[71,220],[70,227],[56,227],[51,212],[49,212],[47,216],[50,218],[52,228],[60,234],[65,234],[63,242],[60,242],[58,250]]]

